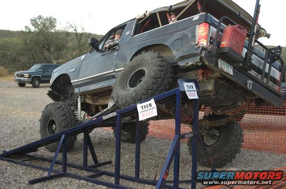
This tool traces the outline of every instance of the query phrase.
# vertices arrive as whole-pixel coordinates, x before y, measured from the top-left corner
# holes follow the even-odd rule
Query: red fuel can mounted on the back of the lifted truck
[[[247,30],[242,26],[238,24],[234,26],[227,26],[224,28],[220,47],[229,47],[241,55],[246,36]]]

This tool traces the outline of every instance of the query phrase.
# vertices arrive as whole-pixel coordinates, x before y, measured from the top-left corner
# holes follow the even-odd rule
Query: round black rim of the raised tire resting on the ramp
[[[129,74],[126,82],[126,87],[131,89],[138,86],[144,79],[147,73],[147,69],[144,67],[136,68],[131,74]]]

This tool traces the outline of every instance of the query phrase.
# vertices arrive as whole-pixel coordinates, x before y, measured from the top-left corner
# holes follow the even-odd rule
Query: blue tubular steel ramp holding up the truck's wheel
[[[189,133],[181,133],[181,107],[182,107],[182,97],[187,95],[187,92],[185,89],[194,89],[195,95],[198,95],[199,87],[196,80],[178,80],[179,87],[175,88],[173,90],[170,90],[168,92],[162,93],[161,95],[158,95],[152,99],[148,99],[145,101],[142,101],[140,104],[148,102],[150,100],[154,100],[156,104],[164,104],[168,101],[176,101],[176,112],[175,112],[175,137],[173,139],[172,145],[170,147],[170,151],[168,153],[166,162],[164,167],[161,170],[160,177],[158,181],[153,180],[146,180],[143,178],[140,178],[140,126],[139,126],[139,116],[137,111],[137,105],[132,105],[124,109],[120,109],[118,111],[112,112],[108,115],[101,116],[97,119],[88,121],[86,123],[77,125],[75,127],[72,127],[70,129],[64,130],[62,132],[56,133],[54,135],[51,135],[47,138],[43,138],[37,141],[34,141],[33,143],[30,143],[28,145],[16,148],[11,151],[5,151],[3,154],[0,155],[0,159],[4,161],[13,162],[15,164],[24,165],[27,167],[32,167],[35,169],[48,171],[48,175],[44,177],[35,178],[32,180],[29,180],[30,184],[38,183],[46,180],[50,180],[56,177],[70,177],[80,180],[85,180],[88,182],[92,182],[95,184],[104,185],[107,187],[113,187],[113,188],[130,188],[125,185],[120,184],[120,179],[125,179],[129,181],[134,181],[138,183],[144,183],[144,184],[150,184],[155,185],[156,188],[179,188],[179,168],[180,168],[180,140],[184,138],[192,137],[193,140],[193,146],[192,146],[192,176],[191,176],[191,187],[195,188],[196,182],[195,182],[195,175],[196,175],[196,143],[197,139],[199,140],[200,144],[202,145],[203,149],[205,150],[205,153],[207,157],[209,158],[210,162],[212,163],[212,160],[210,159],[209,153],[207,152],[206,147],[204,146],[202,139],[200,138],[200,135],[198,134],[197,126],[198,126],[198,111],[199,111],[199,100],[192,99],[193,101],[193,118],[192,118],[192,125],[193,129],[192,132]],[[191,88],[190,85],[187,85],[187,83],[192,83]],[[193,87],[193,88],[192,88]],[[188,94],[189,96],[189,94]],[[136,124],[136,150],[135,150],[135,167],[134,167],[134,176],[128,176],[120,174],[120,146],[121,146],[121,140],[120,140],[120,134],[121,134],[121,119],[130,116],[130,115],[137,115],[137,124]],[[114,172],[105,171],[99,169],[99,167],[103,165],[107,165],[112,163],[112,161],[103,161],[100,162],[97,158],[94,146],[92,144],[89,130],[97,128],[97,127],[103,127],[106,125],[110,125],[111,123],[116,124],[116,145],[115,145],[115,170]],[[72,163],[67,162],[67,138],[72,135],[76,135],[79,133],[84,133],[84,145],[83,145],[83,164],[82,165],[75,165]],[[38,148],[44,147],[46,145],[49,145],[51,143],[54,143],[56,141],[59,141],[58,148],[55,152],[55,156],[53,159],[45,158],[45,157],[39,157],[33,154],[30,154],[31,152],[36,152]],[[57,156],[62,151],[62,161],[57,161]],[[88,151],[90,151],[92,159],[93,159],[93,165],[88,165]],[[19,156],[21,157],[19,159]],[[44,162],[50,162],[51,166],[50,168],[43,167],[40,165],[35,165],[30,162],[33,160],[40,160]],[[166,184],[166,180],[168,178],[169,169],[174,160],[174,180],[173,185]],[[61,170],[54,169],[55,164],[61,165]],[[87,172],[90,172],[90,175],[82,176],[82,175],[76,175],[73,173],[70,173],[67,171],[67,167],[75,168],[79,170],[84,170]],[[213,167],[214,169],[214,167]],[[114,182],[107,182],[98,179],[100,176],[110,176],[114,177]]]

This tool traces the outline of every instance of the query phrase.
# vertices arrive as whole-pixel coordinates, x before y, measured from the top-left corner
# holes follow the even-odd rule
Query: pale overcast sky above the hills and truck
[[[135,18],[145,11],[152,11],[158,7],[170,6],[178,0],[144,0],[144,1],[2,1],[0,11],[0,29],[24,30],[30,25],[30,19],[38,15],[52,16],[58,21],[58,27],[65,27],[68,23],[83,26],[85,31],[105,34],[120,23]],[[256,0],[233,0],[237,5],[253,15]],[[262,38],[267,45],[286,46],[285,32],[285,0],[261,0],[259,24],[271,33],[269,39]]]

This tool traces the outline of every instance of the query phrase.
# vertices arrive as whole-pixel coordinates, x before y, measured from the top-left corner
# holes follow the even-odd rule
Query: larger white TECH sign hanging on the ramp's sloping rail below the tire
[[[157,107],[154,99],[142,104],[137,104],[137,111],[139,114],[139,121],[156,116]]]

